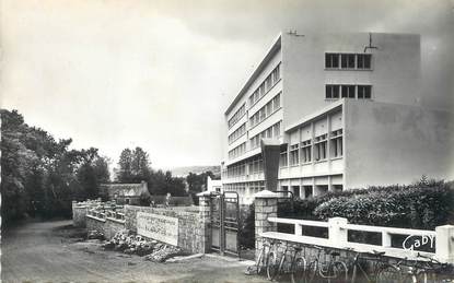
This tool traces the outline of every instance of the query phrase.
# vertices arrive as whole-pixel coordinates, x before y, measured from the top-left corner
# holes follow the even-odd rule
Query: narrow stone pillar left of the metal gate
[[[199,197],[200,229],[196,233],[198,233],[199,252],[206,253],[211,249],[211,198],[209,191],[202,191],[197,197]]]

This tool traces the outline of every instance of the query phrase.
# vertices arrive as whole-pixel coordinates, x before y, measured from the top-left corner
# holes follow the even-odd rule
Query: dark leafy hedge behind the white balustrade
[[[294,211],[280,208],[279,216],[306,220],[346,217],[350,223],[434,229],[453,223],[454,186],[428,180],[409,186],[370,187],[300,200]]]

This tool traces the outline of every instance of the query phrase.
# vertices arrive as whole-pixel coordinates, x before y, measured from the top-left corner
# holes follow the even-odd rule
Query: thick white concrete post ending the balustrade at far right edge
[[[454,263],[454,225],[435,227],[435,257],[441,262]]]

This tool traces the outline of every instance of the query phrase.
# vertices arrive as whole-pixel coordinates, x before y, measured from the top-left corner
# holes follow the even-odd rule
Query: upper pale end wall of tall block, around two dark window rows
[[[326,70],[325,52],[363,54],[368,33],[282,35],[284,127],[294,123],[325,99],[326,84],[371,84],[372,99],[418,105],[420,102],[419,35],[372,34],[372,70]]]

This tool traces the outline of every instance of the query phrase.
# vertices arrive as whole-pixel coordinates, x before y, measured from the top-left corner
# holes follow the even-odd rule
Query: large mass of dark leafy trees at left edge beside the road
[[[71,139],[56,141],[30,127],[16,110],[1,109],[1,214],[5,224],[31,216],[69,216],[71,200],[97,197],[108,180],[107,161],[97,149],[69,150]]]

